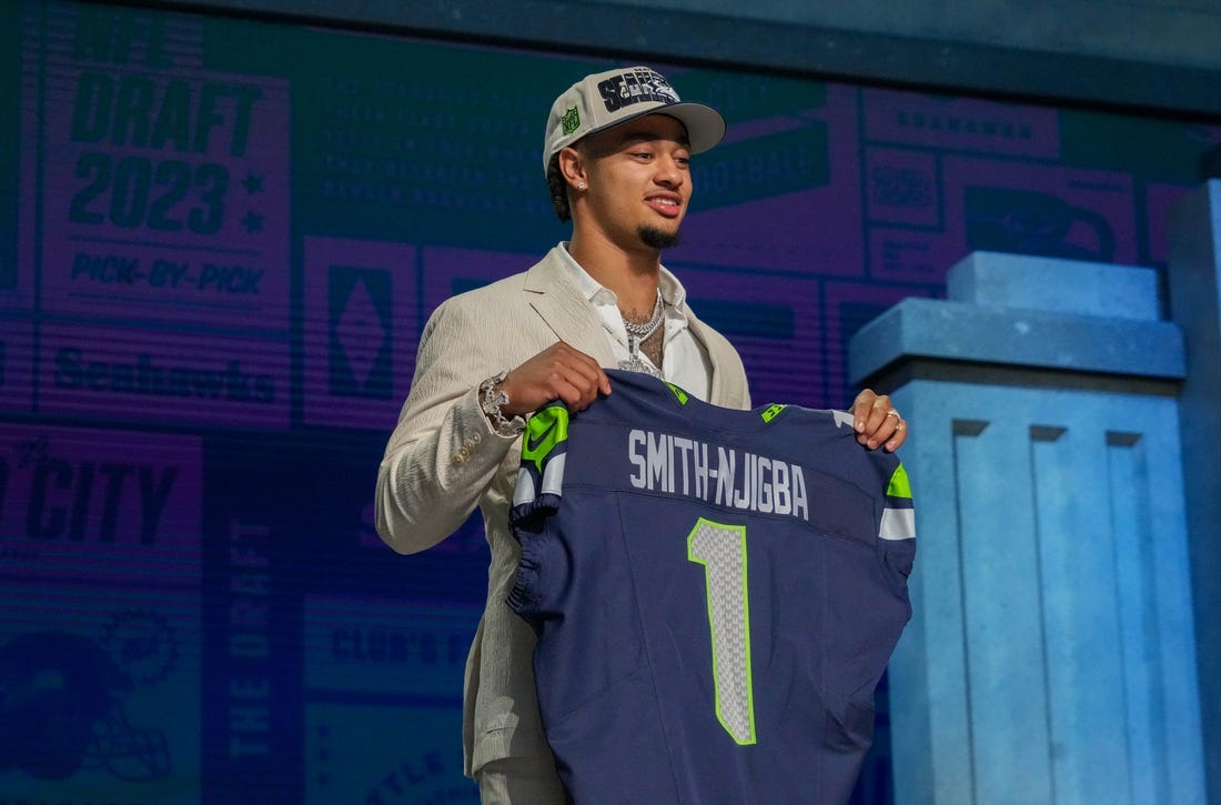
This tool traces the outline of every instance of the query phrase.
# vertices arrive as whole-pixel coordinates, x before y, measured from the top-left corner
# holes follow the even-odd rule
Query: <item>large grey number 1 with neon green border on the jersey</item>
[[[735,741],[753,744],[746,526],[723,525],[701,517],[687,535],[687,559],[705,569],[717,719]]]

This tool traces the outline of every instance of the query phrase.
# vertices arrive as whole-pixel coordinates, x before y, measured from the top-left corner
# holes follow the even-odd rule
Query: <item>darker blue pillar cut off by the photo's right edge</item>
[[[1221,167],[1221,148],[1214,158]],[[1205,762],[1209,801],[1221,803],[1221,181],[1188,192],[1168,232],[1170,314],[1188,347],[1179,418]]]

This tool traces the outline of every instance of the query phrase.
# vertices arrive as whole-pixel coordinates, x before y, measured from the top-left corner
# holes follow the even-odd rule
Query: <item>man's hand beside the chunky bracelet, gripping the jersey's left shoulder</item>
[[[597,360],[558,341],[505,375],[501,390],[509,397],[505,417],[532,413],[552,399],[576,412],[589,408],[598,392],[609,395],[610,380]]]

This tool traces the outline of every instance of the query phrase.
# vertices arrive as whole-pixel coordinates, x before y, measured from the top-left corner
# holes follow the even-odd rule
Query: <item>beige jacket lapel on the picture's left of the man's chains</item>
[[[582,297],[568,276],[568,266],[554,247],[525,279],[530,307],[568,346],[593,357],[603,366],[615,365],[593,304]]]

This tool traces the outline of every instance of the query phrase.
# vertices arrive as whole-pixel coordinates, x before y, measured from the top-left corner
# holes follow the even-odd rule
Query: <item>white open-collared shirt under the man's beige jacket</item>
[[[573,283],[597,308],[602,329],[607,333],[615,360],[628,360],[631,353],[628,348],[628,330],[623,326],[623,314],[619,313],[618,297],[615,297],[614,291],[598,283],[590,276],[589,271],[573,259],[573,255],[568,253],[567,242],[560,243],[560,247],[559,252],[564,255],[564,260],[573,272]],[[687,326],[686,290],[665,266],[661,269],[659,280],[662,302],[665,307],[662,377],[695,397],[707,401],[712,388],[712,365],[708,354]],[[637,351],[637,357],[646,365],[658,369],[643,352]]]

